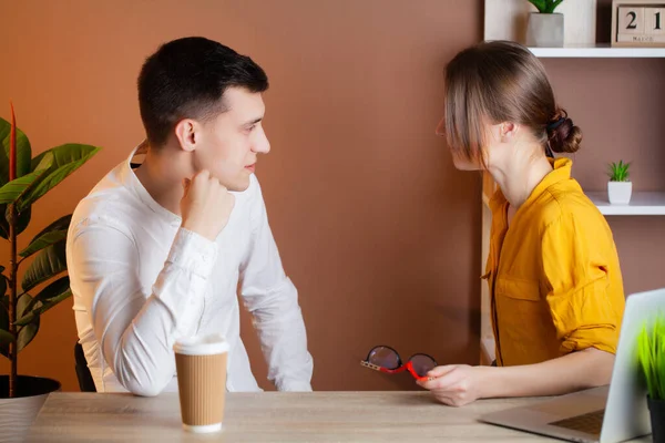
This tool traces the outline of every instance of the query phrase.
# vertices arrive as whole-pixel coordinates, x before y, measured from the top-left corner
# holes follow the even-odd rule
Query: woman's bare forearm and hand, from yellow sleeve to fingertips
[[[446,365],[419,381],[442,403],[461,406],[478,399],[560,395],[610,383],[614,354],[595,348],[519,367]]]

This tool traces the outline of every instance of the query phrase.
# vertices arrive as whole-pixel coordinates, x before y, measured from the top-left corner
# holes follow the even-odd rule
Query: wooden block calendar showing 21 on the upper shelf
[[[613,0],[613,47],[665,47],[665,0]]]

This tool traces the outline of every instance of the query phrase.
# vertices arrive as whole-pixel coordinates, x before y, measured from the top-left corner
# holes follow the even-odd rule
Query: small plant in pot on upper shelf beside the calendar
[[[554,10],[563,0],[529,0],[538,12],[529,14],[526,45],[541,48],[563,47],[563,14]]]

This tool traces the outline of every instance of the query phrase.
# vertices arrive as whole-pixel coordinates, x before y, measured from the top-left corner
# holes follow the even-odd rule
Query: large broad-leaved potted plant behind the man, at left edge
[[[7,266],[0,266],[0,353],[11,362],[10,373],[0,375],[0,422],[6,422],[3,437],[21,441],[47,394],[60,389],[55,380],[19,375],[18,356],[37,334],[41,315],[71,296],[64,255],[71,215],[43,228],[20,249],[17,239],[30,224],[32,205],[100,148],[64,144],[32,158],[28,137],[17,128],[13,106],[11,124],[0,119],[0,237],[10,249]],[[19,281],[21,265],[27,269]]]

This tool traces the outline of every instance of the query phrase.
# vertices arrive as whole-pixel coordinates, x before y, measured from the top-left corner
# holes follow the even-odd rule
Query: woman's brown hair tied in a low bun
[[[446,137],[453,155],[484,164],[485,125],[518,123],[545,148],[574,153],[582,131],[556,105],[545,69],[510,41],[475,44],[446,68]]]

